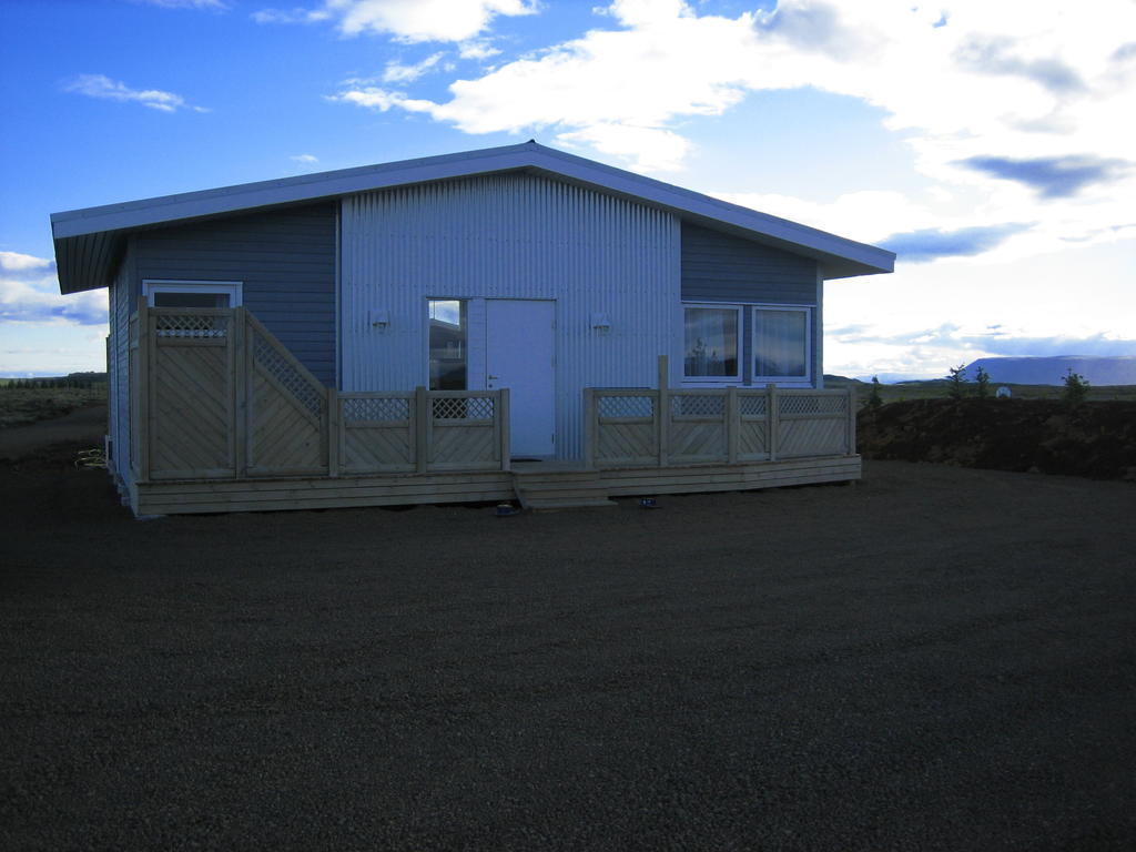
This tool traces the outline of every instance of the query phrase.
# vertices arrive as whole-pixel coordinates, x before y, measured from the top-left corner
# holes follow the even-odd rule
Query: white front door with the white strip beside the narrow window
[[[556,452],[554,319],[556,302],[485,302],[485,386],[509,389],[513,457]]]

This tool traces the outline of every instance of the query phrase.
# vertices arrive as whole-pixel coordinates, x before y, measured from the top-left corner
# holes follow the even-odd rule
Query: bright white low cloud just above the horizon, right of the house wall
[[[825,369],[936,378],[991,356],[1131,354],[1136,289],[1118,274],[1130,256],[1099,243],[964,270],[901,266],[894,275],[829,282]]]

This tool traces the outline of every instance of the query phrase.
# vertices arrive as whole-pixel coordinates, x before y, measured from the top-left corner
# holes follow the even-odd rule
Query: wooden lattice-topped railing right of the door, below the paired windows
[[[855,453],[854,391],[588,387],[585,461],[594,468],[738,463]]]

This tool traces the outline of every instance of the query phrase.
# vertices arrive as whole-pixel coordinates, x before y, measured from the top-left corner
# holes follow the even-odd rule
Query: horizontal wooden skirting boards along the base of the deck
[[[579,470],[563,470],[562,496],[579,487]],[[632,467],[588,471],[588,481],[611,496],[693,494],[749,491],[859,479],[859,456],[826,456],[736,465]],[[594,477],[594,478],[593,478]],[[556,493],[557,471],[542,475]],[[513,478],[504,471],[452,474],[387,474],[369,476],[258,477],[150,482],[132,486],[137,515],[279,511],[371,506],[493,502],[516,496]]]

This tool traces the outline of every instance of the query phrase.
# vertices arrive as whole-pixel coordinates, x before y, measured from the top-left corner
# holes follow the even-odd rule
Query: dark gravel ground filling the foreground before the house
[[[6,849],[1136,845],[1131,484],[136,521],[57,451],[0,495]]]

